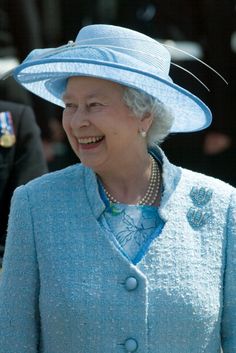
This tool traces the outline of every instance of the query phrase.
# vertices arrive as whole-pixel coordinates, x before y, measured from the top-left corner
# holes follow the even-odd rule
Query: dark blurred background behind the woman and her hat
[[[235,0],[0,0],[0,74],[34,48],[75,39],[87,24],[136,29],[205,61],[227,81],[191,56],[171,49],[171,77],[212,110],[204,132],[169,136],[162,148],[169,159],[236,186],[236,3]],[[23,90],[13,79],[0,82],[0,98],[32,106],[41,128],[50,171],[78,162],[61,127],[61,108]]]

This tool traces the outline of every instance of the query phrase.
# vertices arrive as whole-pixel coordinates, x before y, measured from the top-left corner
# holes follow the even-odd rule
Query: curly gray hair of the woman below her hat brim
[[[123,99],[137,117],[142,118],[145,113],[153,115],[153,122],[147,133],[147,145],[159,145],[163,142],[174,121],[171,110],[157,98],[135,88],[125,87]]]

